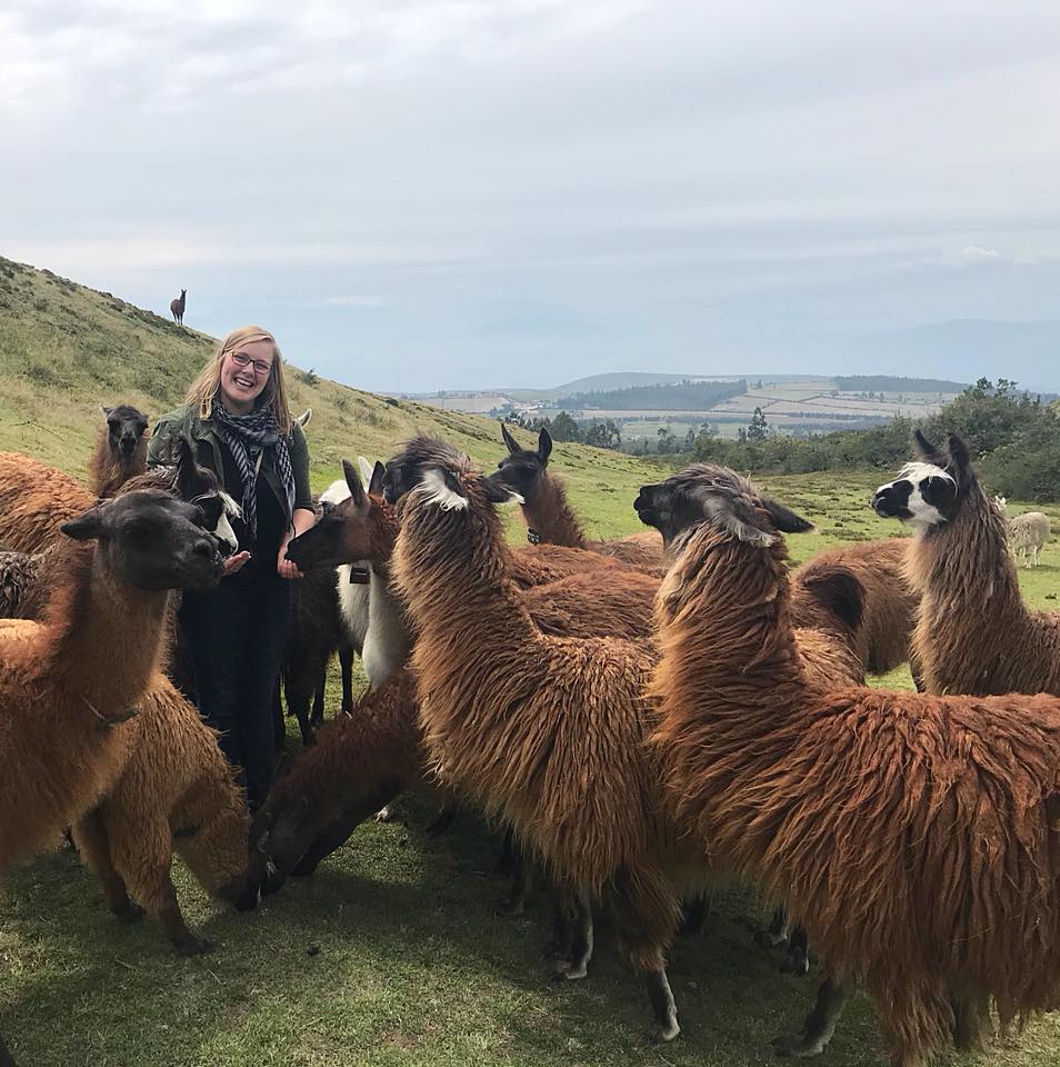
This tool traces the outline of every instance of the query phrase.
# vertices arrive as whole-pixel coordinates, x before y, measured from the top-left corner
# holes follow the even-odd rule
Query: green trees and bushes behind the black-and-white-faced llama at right
[[[866,467],[892,471],[911,458],[912,430],[919,427],[934,441],[944,440],[951,431],[959,433],[978,458],[986,483],[996,491],[1022,500],[1060,500],[1057,410],[1040,397],[1019,391],[1006,378],[994,383],[980,378],[938,413],[916,421],[900,417],[864,430],[802,439],[770,432],[762,422],[764,418],[752,418],[753,433],[749,425],[734,441],[700,432],[679,462],[709,461],[752,473]]]

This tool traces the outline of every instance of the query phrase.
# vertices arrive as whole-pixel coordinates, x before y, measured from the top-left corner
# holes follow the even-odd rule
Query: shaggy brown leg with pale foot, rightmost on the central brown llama
[[[644,976],[654,1026],[651,1040],[672,1041],[681,1027],[663,951],[677,930],[677,901],[660,870],[622,868],[611,887],[614,924],[630,959]]]

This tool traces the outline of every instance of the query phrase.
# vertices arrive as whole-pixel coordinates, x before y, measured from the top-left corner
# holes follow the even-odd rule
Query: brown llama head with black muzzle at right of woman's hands
[[[292,538],[287,547],[287,558],[299,570],[361,560],[382,564],[390,558],[398,528],[393,507],[381,496],[382,463],[376,463],[367,491],[349,460],[342,460],[342,472],[347,493],[321,498],[316,526]]]

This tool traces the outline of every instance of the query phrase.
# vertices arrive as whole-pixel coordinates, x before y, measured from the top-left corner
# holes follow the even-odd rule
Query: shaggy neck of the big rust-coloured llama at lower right
[[[696,530],[656,601],[660,670],[703,690],[733,681],[740,690],[803,685],[786,558],[782,541],[762,549],[710,527]]]

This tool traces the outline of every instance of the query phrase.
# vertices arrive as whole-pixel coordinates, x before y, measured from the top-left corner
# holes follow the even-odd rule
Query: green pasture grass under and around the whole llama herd
[[[110,318],[99,316],[123,316],[113,325],[116,350],[128,356],[122,373],[137,373],[140,355],[121,346],[132,346],[138,332],[150,333],[151,343],[169,345],[166,359],[183,352],[180,366],[187,377],[209,349],[204,339],[167,323],[141,327],[129,313],[101,309],[104,298],[41,278],[30,276],[33,286],[46,287],[46,296],[34,299],[84,301],[83,308],[78,303],[79,312],[100,337],[109,336],[103,331],[110,329]],[[113,393],[102,395],[100,387],[81,395],[88,388],[83,367],[73,355],[67,361],[59,358],[74,352],[73,342],[66,340],[57,341],[52,358],[42,365],[58,368],[60,378],[78,379],[69,396],[60,387],[20,378],[17,366],[12,369],[10,359],[3,359],[19,345],[38,351],[47,330],[29,315],[12,318],[17,329],[11,330],[3,313],[0,308],[0,351],[6,353],[0,383],[22,382],[23,396],[40,407],[19,407],[4,396],[0,430],[8,437],[0,447],[18,440],[19,447],[82,469],[91,429],[81,420],[94,422],[90,408],[97,400],[123,398],[121,383]],[[492,465],[501,452],[496,427],[486,420],[404,401],[394,407],[329,382],[299,386],[296,392],[298,402],[319,406],[309,428],[318,487],[338,473],[341,456],[384,455],[418,426],[458,440],[483,463]],[[347,398],[344,410],[334,406],[339,397]],[[7,423],[9,416],[26,422],[32,410],[50,420],[39,438],[27,426]],[[339,415],[348,422],[341,423]],[[40,448],[32,447],[38,440]],[[553,462],[598,536],[637,529],[633,491],[660,473],[629,457],[579,446],[557,446]],[[814,532],[790,538],[792,556],[802,560],[843,540],[899,532],[866,506],[879,480],[866,473],[762,482],[817,522]],[[1051,517],[1060,527],[1060,511]],[[512,536],[520,536],[517,525]],[[1031,604],[1054,606],[1058,562],[1052,545],[1044,567],[1021,571]],[[908,687],[908,671],[887,681]],[[333,711],[337,685],[329,696]],[[289,746],[297,747],[293,734]],[[776,955],[753,946],[763,907],[748,893],[733,888],[720,894],[706,935],[674,946],[671,980],[684,1033],[673,1045],[654,1048],[642,1037],[649,1020],[646,997],[617,951],[607,917],[598,920],[588,980],[550,983],[542,957],[549,934],[542,896],[536,896],[522,918],[496,917],[493,904],[506,888],[490,872],[496,840],[470,814],[461,815],[448,835],[431,837],[424,827],[432,815],[426,801],[404,798],[394,821],[361,827],[312,879],[290,881],[250,915],[213,905],[178,866],[189,925],[217,946],[211,955],[190,960],[173,956],[151,923],[129,927],[113,919],[71,851],[38,859],[0,888],[0,1017],[12,1050],[23,1067],[774,1063],[770,1039],[801,1019],[818,976],[784,975]],[[819,1061],[822,1067],[883,1067],[873,1011],[863,998],[848,1010]],[[1003,1039],[990,1063],[1060,1063],[1060,1016],[1034,1020],[1021,1035]]]

